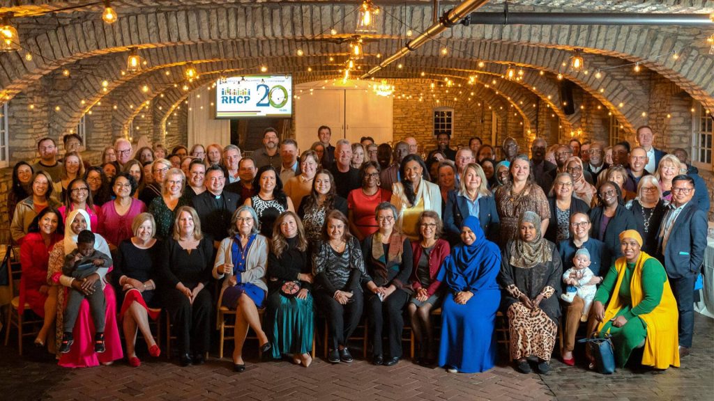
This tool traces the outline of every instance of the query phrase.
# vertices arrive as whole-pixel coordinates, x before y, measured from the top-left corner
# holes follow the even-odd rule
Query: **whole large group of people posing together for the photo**
[[[596,142],[549,149],[537,138],[528,158],[507,138],[496,161],[480,138],[457,151],[439,133],[422,156],[411,137],[333,146],[321,126],[299,155],[266,128],[251,156],[217,144],[135,152],[119,139],[89,166],[81,138],[65,136],[60,161],[43,138],[9,193],[21,294],[44,318],[35,342],[61,365],[109,363],[123,355],[119,316],[136,367],[139,332],[161,354],[149,321],[163,308],[181,364],[200,365],[212,314],[234,310],[236,372],[249,329],[263,354],[308,367],[316,316],[328,361],[348,363],[366,315],[371,360],[391,366],[408,316],[418,362],[482,372],[496,362],[501,310],[520,372],[533,357],[550,370],[561,314],[568,365],[585,322],[613,337],[619,365],[644,346],[643,365],[678,366],[692,343],[708,191],[682,150],[666,155],[649,127],[637,133],[640,146],[618,143],[609,165]]]

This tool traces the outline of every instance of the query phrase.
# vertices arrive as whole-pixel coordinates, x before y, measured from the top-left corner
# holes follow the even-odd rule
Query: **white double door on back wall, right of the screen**
[[[294,93],[300,98],[294,99],[295,128],[300,150],[306,151],[318,140],[320,126],[330,127],[333,145],[341,138],[359,142],[363,136],[371,136],[376,143],[391,143],[392,98],[378,96],[367,86],[362,81],[347,86],[323,81],[296,85]]]

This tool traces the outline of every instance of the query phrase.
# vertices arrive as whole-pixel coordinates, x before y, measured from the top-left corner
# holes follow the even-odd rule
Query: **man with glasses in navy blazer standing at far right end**
[[[660,225],[658,259],[665,266],[679,309],[679,352],[689,354],[694,334],[694,282],[707,248],[707,215],[697,207],[694,180],[672,180],[672,203]]]

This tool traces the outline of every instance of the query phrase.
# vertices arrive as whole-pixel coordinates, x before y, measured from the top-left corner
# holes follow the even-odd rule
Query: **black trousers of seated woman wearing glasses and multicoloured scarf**
[[[401,334],[404,330],[404,305],[409,295],[403,290],[396,289],[386,300],[379,300],[372,294],[367,300],[370,318],[370,335],[372,337],[373,355],[382,355],[382,332],[387,326],[387,340],[389,342],[389,357],[401,357]]]

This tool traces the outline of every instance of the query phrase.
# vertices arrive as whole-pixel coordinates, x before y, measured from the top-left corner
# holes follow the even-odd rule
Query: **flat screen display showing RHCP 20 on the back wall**
[[[216,118],[291,117],[293,77],[233,76],[216,82]]]

